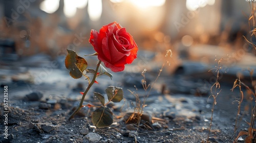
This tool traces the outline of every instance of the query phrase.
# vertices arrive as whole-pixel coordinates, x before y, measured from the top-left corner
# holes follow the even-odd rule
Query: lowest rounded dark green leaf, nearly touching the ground
[[[97,128],[109,127],[113,123],[113,113],[109,108],[100,106],[93,112],[92,122]]]

